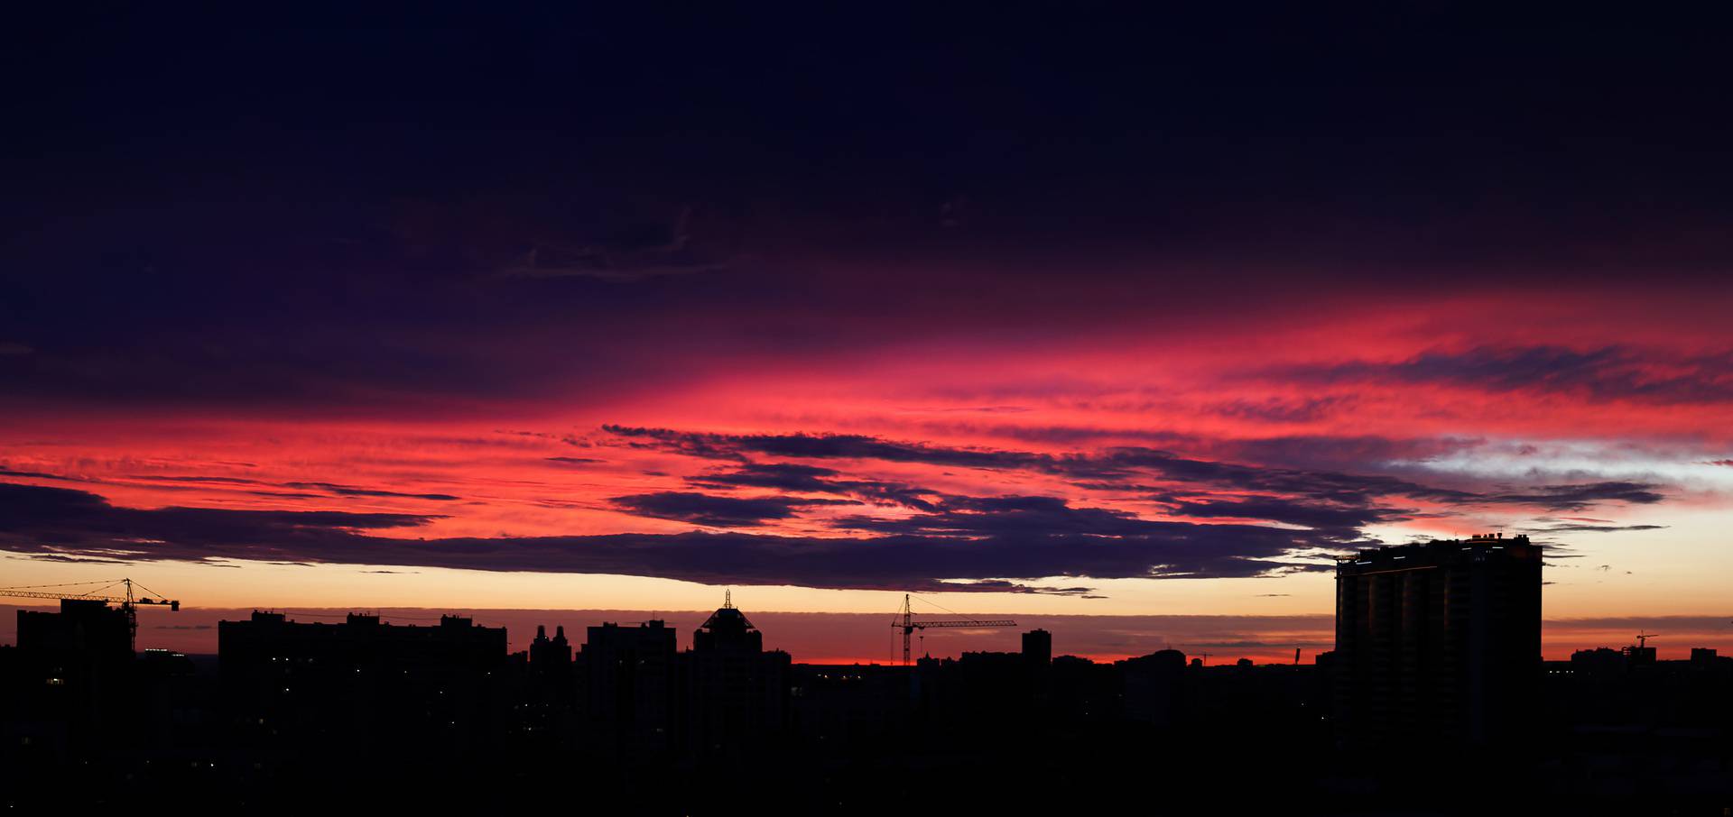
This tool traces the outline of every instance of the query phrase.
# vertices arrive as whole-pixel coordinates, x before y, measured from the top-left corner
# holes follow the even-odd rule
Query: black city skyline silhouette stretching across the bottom
[[[577,774],[612,781],[589,794],[610,808],[731,814],[735,798],[759,791],[752,770],[764,763],[789,777],[754,810],[870,808],[887,791],[932,807],[1031,805],[1055,789],[953,789],[927,775],[1016,763],[1106,782],[1156,760],[1222,784],[1232,775],[1210,753],[1237,748],[1270,762],[1298,749],[1329,758],[1277,775],[1326,798],[1307,807],[1326,814],[1414,796],[1470,807],[1475,789],[1430,791],[1421,772],[1461,753],[1489,763],[1485,779],[1513,801],[1593,793],[1605,807],[1624,803],[1627,786],[1719,801],[1733,658],[1693,647],[1660,659],[1646,646],[1653,634],[1639,634],[1624,649],[1541,661],[1541,554],[1527,537],[1489,533],[1345,556],[1334,649],[1307,663],[1301,649],[1291,663],[1211,665],[1210,653],[1173,647],[1094,661],[1064,653],[1064,632],[1021,625],[1012,651],[802,661],[768,649],[754,623],[764,616],[731,590],[685,637],[662,618],[570,637],[539,623],[513,649],[506,628],[461,614],[404,623],[380,611],[302,620],[255,609],[218,623],[215,656],[189,656],[132,644],[140,613],[178,613],[178,602],[49,589],[66,594],[59,609],[19,609],[17,646],[0,647],[0,767],[12,807],[45,805],[75,782],[99,800],[173,793],[262,807],[334,791],[451,807],[511,781]],[[880,623],[901,634],[908,621],[953,621],[970,640],[1014,625],[912,613]],[[1113,760],[1054,755],[1054,741],[1087,741]],[[331,746],[366,746],[366,762],[331,763],[321,756]],[[866,784],[886,775],[912,782]]]

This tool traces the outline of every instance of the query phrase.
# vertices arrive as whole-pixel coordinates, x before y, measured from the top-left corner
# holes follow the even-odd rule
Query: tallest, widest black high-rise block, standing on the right
[[[1480,535],[1336,561],[1336,718],[1350,746],[1523,732],[1541,672],[1541,547]]]

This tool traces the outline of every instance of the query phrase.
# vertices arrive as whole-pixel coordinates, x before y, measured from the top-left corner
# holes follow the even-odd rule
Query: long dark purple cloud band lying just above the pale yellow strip
[[[747,511],[688,504],[686,497],[655,502],[672,502],[671,511],[695,514],[790,511],[787,505]],[[1303,531],[1149,523],[1111,511],[1071,509],[1043,497],[976,499],[929,516],[901,526],[853,523],[875,528],[879,535],[835,538],[697,531],[386,538],[369,531],[414,528],[432,518],[338,511],[128,509],[76,490],[0,485],[0,547],[49,557],[250,559],[619,573],[828,589],[1078,594],[1085,589],[983,580],[1258,576],[1296,569],[1272,559],[1312,545]]]

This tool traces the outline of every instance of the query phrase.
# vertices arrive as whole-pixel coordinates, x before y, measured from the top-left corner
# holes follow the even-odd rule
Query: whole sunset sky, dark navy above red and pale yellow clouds
[[[1733,649],[1721,28],[140,14],[5,35],[0,159],[0,585],[140,646],[733,587],[1291,659],[1333,556],[1499,530],[1551,658]]]

